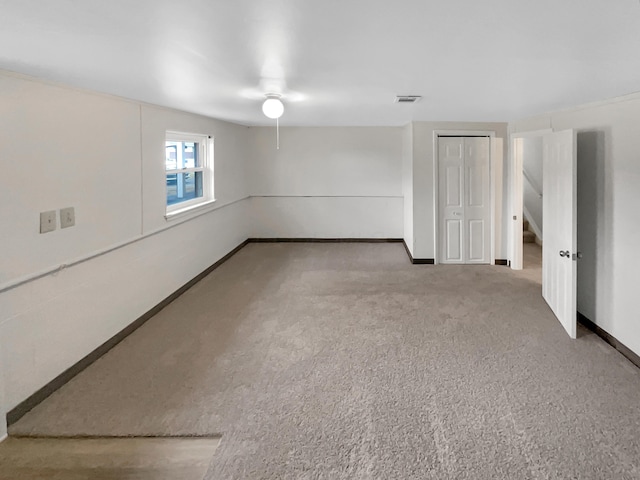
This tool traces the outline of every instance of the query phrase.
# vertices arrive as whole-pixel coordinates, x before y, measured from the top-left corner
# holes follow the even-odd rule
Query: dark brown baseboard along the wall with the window
[[[111,350],[113,347],[115,347],[118,343],[120,343],[126,337],[128,337],[133,332],[135,332],[138,328],[140,328],[142,325],[144,325],[147,322],[147,320],[152,318],[154,315],[156,315],[158,312],[160,312],[160,310],[162,310],[164,307],[169,305],[171,302],[173,302],[176,298],[178,298],[184,292],[189,290],[189,288],[194,286],[196,283],[198,283],[204,277],[209,275],[213,270],[215,270],[220,265],[222,265],[224,262],[226,262],[231,257],[233,257],[242,248],[244,248],[248,243],[249,243],[249,240],[245,240],[244,242],[242,242],[240,245],[235,247],[233,250],[231,250],[229,253],[227,253],[220,260],[218,260],[213,265],[209,266],[208,268],[206,268],[205,270],[200,272],[198,275],[193,277],[191,280],[189,280],[183,286],[178,288],[171,295],[169,295],[168,297],[166,297],[165,299],[160,301],[157,305],[155,305],[150,310],[148,310],[147,312],[142,314],[140,317],[138,317],[132,323],[127,325],[125,328],[120,330],[118,333],[116,333],[109,340],[104,342],[102,345],[97,347],[92,352],[90,352],[87,355],[85,355],[83,358],[81,358],[76,363],[71,365],[69,368],[67,368],[60,375],[55,377],[53,380],[48,382],[46,385],[44,385],[43,387],[39,388],[35,393],[31,394],[25,400],[23,400],[18,405],[16,405],[11,410],[9,410],[7,412],[7,426],[11,426],[14,423],[16,423],[18,420],[20,420],[20,418],[22,418],[27,412],[29,412],[31,409],[33,409],[36,405],[41,403],[49,395],[51,395],[53,392],[58,390],[60,387],[62,387],[67,382],[69,382],[69,380],[71,380],[73,377],[78,375],[80,372],[82,372],[84,369],[86,369],[88,366],[90,366],[92,363],[94,363],[96,360],[98,360],[100,357],[102,357],[105,353],[107,353],[109,350]]]

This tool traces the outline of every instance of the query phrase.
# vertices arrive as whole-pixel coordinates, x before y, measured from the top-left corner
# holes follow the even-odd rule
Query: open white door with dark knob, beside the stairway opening
[[[576,135],[544,135],[542,296],[571,338],[576,338]]]

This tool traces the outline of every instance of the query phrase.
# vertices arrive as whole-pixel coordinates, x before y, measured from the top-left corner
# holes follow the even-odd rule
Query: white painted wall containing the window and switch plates
[[[213,135],[217,175],[211,210],[169,222],[167,129]],[[248,135],[0,73],[0,418],[247,238]],[[67,206],[76,226],[39,234],[39,212]]]

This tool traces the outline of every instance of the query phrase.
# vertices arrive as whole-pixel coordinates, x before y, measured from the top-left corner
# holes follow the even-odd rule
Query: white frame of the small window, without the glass
[[[197,133],[185,133],[177,131],[167,131],[165,135],[165,147],[166,142],[194,142],[198,145],[198,155],[200,159],[200,166],[193,168],[180,168],[174,170],[167,170],[166,163],[164,167],[164,185],[165,185],[165,217],[169,219],[177,214],[191,211],[195,208],[209,205],[215,202],[213,195],[213,137],[210,135],[197,134]],[[166,156],[165,156],[166,160]],[[202,196],[186,200],[184,202],[174,203],[173,205],[167,205],[166,195],[166,181],[167,175],[172,173],[196,173],[202,172]]]

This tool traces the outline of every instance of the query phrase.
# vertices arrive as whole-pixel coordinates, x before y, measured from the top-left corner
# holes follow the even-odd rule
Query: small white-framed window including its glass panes
[[[167,215],[212,202],[213,139],[167,132],[165,139]]]

